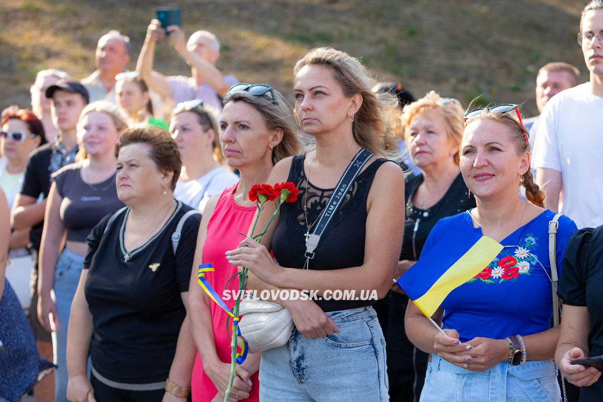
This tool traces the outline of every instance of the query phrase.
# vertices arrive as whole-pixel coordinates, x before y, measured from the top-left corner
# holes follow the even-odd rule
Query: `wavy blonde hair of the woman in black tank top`
[[[358,59],[346,52],[330,47],[312,49],[295,63],[293,74],[297,75],[308,65],[329,68],[347,98],[362,96],[362,104],[352,123],[352,134],[356,143],[375,155],[399,159],[397,152],[387,151],[387,144],[390,138],[394,137],[389,115],[398,104],[396,96],[385,92],[374,93],[376,81],[368,76],[367,69]]]

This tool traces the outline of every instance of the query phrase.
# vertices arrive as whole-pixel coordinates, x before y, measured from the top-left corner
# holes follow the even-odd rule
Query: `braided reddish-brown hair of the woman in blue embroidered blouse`
[[[485,119],[490,119],[504,124],[509,129],[512,139],[515,142],[517,154],[521,155],[525,152],[531,152],[532,147],[527,140],[529,138],[528,131],[525,130],[523,125],[517,120],[516,116],[517,113],[514,109],[505,113],[496,113],[484,108],[482,113],[480,113],[478,116],[467,119],[465,125],[467,126],[473,121],[481,121]],[[545,193],[540,189],[540,187],[538,187],[538,184],[534,183],[534,175],[532,175],[530,165],[528,165],[528,170],[522,175],[523,182],[521,184],[526,189],[526,198],[528,198],[528,201],[536,206],[544,208]]]

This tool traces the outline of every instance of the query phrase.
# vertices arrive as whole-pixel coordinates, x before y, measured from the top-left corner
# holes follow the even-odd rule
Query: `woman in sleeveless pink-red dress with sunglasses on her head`
[[[242,90],[235,90],[237,88],[241,87],[233,87],[224,99],[219,139],[226,163],[239,169],[241,180],[212,196],[207,203],[194,264],[213,264],[215,271],[207,272],[206,279],[229,309],[235,304],[239,283],[235,278],[226,285],[237,269],[224,259],[224,253],[241,242],[239,233],[247,233],[259,198],[273,200],[280,193],[279,189],[275,193],[273,187],[256,183],[265,183],[274,163],[300,151],[297,125],[285,98],[273,89],[254,95],[244,86]],[[223,295],[225,286],[227,293]],[[223,401],[230,378],[227,314],[198,286],[197,269],[191,275],[189,305],[198,349],[192,375],[192,399],[195,402]],[[229,400],[259,400],[259,357],[259,354],[249,354],[244,364],[236,366]]]

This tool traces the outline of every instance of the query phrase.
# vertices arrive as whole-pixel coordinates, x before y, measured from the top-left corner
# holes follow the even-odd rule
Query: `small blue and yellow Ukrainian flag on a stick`
[[[494,239],[473,230],[449,233],[396,281],[428,318],[447,295],[490,264],[502,250]]]

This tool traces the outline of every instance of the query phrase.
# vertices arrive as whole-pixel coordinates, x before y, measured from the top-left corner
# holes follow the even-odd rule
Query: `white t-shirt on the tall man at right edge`
[[[578,228],[603,225],[603,98],[593,95],[589,83],[545,105],[534,149],[533,167],[561,172],[561,213]]]

